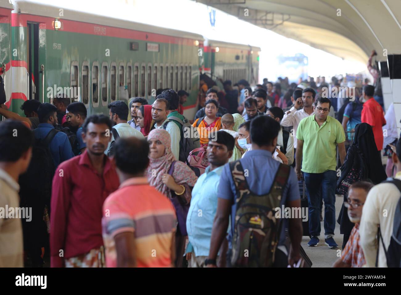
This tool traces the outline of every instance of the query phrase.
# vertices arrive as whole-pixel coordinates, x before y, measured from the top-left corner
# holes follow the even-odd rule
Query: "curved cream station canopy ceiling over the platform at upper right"
[[[197,0],[342,59],[401,51],[401,0]],[[248,9],[248,16],[245,16]]]

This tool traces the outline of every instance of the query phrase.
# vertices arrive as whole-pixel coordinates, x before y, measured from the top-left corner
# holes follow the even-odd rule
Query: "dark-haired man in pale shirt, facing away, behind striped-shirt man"
[[[122,100],[117,100],[115,102],[111,102],[107,108],[109,108],[109,116],[110,120],[115,124],[113,129],[117,131],[118,137],[138,137],[139,139],[144,138],[144,134],[142,132],[132,128],[130,124],[127,123],[128,118],[128,106]],[[115,131],[114,131],[115,132]],[[106,155],[113,154],[113,142],[116,140],[113,135],[113,130],[110,130],[111,140],[109,142],[109,146],[105,150]],[[117,136],[116,134],[116,136]]]

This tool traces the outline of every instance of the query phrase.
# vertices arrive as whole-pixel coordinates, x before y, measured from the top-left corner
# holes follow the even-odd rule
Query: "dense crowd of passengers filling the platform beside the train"
[[[151,105],[111,102],[108,116],[63,95],[27,100],[26,117],[1,105],[0,207],[32,208],[32,220],[0,216],[0,267],[47,255],[51,267],[293,267],[303,235],[320,243],[322,220],[338,247],[337,215],[334,267],[397,263],[401,141],[377,87],[208,81],[189,120],[189,94],[172,89]],[[307,232],[293,214],[305,198]]]

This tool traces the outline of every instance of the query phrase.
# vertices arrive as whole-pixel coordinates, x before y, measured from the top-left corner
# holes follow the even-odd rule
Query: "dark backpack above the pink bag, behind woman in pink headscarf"
[[[199,119],[201,120],[201,119]],[[198,120],[198,122],[200,122]],[[175,116],[170,116],[168,117],[168,122],[176,121],[180,124],[180,154],[179,154],[179,161],[188,163],[187,159],[189,156],[189,153],[193,151],[194,149],[197,149],[200,147],[200,141],[197,136],[191,137],[188,135],[195,134],[196,129],[191,132],[191,129],[193,128],[192,125],[189,123],[188,119],[184,118],[184,121],[182,121],[180,118],[177,118]],[[168,122],[164,123],[163,129],[166,130]],[[175,124],[175,123],[174,123]],[[196,132],[197,133],[197,132]]]

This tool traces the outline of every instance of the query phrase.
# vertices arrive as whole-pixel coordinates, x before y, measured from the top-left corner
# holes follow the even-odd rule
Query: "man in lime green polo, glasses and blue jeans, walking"
[[[336,145],[341,164],[346,153],[344,129],[338,120],[328,116],[330,107],[331,101],[320,97],[315,101],[314,114],[301,120],[296,134],[295,169],[298,179],[304,174],[308,194],[309,233],[312,237],[308,246],[319,244],[320,202],[323,197],[324,242],[329,248],[335,248],[338,246],[333,238],[336,227]]]

